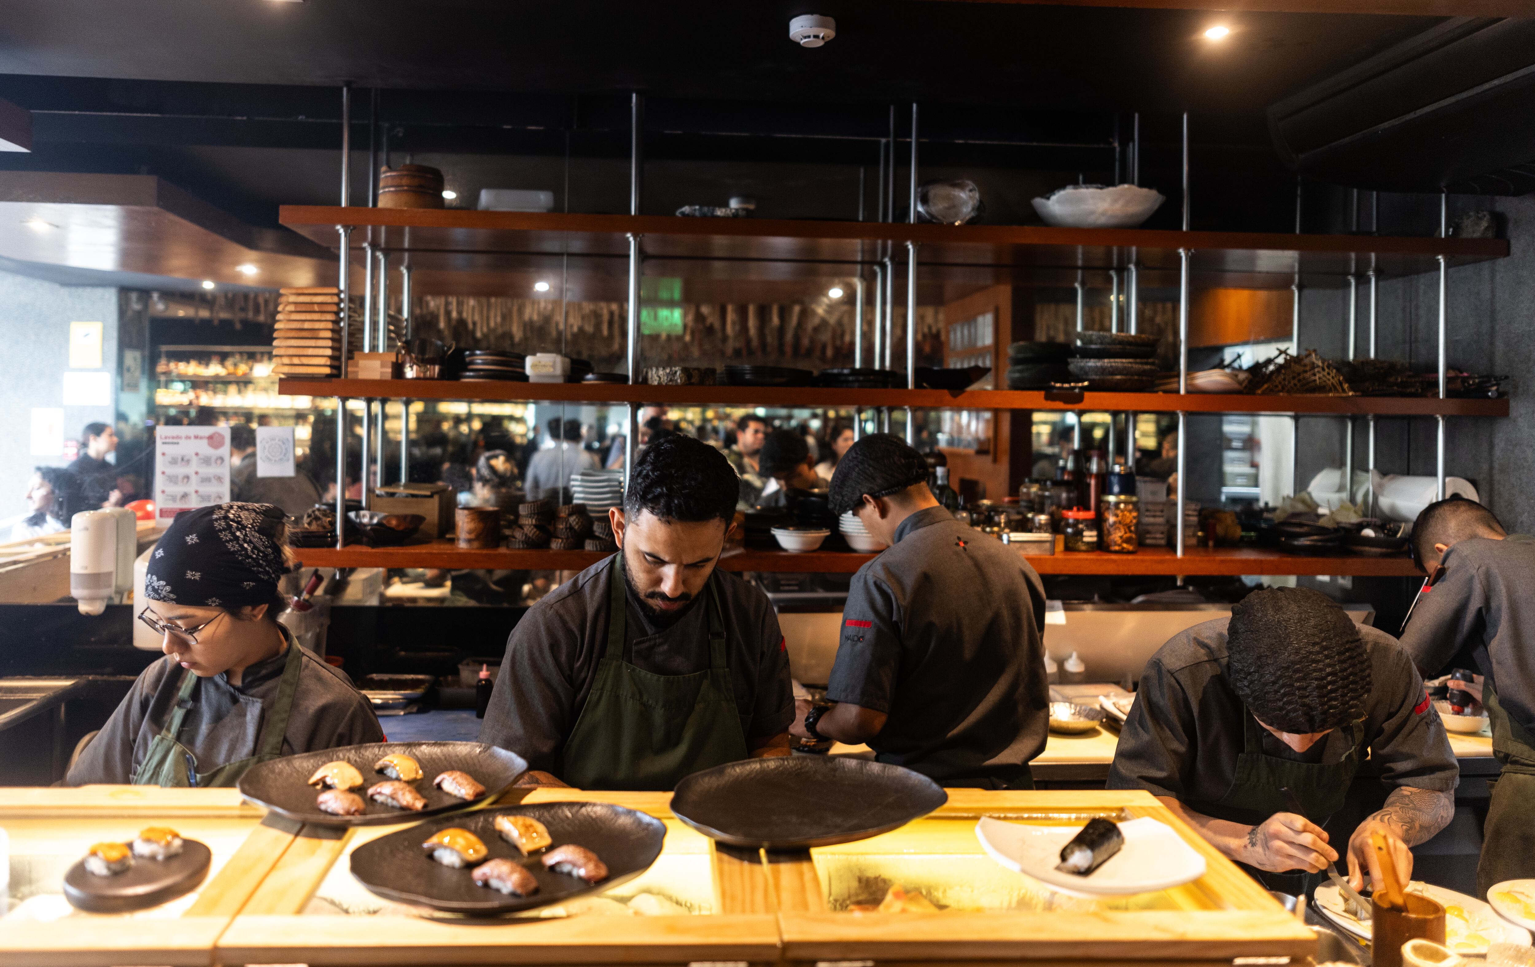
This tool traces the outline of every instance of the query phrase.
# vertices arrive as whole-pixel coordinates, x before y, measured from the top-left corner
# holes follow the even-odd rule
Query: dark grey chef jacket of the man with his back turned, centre
[[[858,568],[826,697],[889,718],[869,746],[942,784],[1028,780],[1045,748],[1045,591],[1016,551],[942,507]]]

